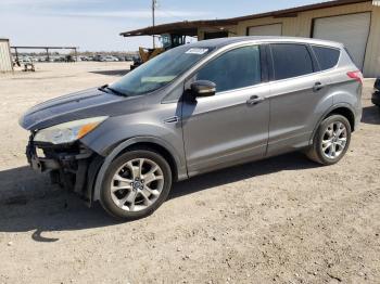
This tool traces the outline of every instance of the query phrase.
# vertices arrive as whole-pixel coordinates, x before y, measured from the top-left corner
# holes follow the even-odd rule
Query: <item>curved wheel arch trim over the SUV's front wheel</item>
[[[164,147],[165,150],[167,150],[170,155],[174,157],[175,160],[175,167],[177,169],[178,172],[178,180],[185,180],[188,179],[188,173],[187,173],[187,169],[186,167],[179,167],[179,165],[181,165],[179,158],[178,158],[178,154],[176,154],[176,151],[173,149],[172,145],[169,145],[167,142],[165,142],[164,140],[156,138],[156,137],[135,137],[135,138],[130,138],[122,143],[119,143],[115,149],[113,149],[111,151],[111,153],[109,153],[109,155],[105,157],[103,165],[101,166],[98,176],[97,176],[97,180],[94,183],[94,188],[93,188],[93,194],[92,194],[92,201],[99,201],[100,199],[100,191],[101,191],[101,185],[105,176],[105,171],[109,168],[110,164],[115,159],[115,157],[122,153],[126,147],[134,145],[136,143],[139,142],[148,142],[148,143],[154,143],[157,144],[162,147]]]

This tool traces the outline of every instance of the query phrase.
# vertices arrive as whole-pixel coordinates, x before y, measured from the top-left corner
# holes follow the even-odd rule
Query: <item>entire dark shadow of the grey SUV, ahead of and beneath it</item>
[[[194,194],[221,184],[282,170],[317,167],[301,153],[244,164],[176,183],[170,199]],[[20,191],[22,186],[23,191]],[[0,189],[17,189],[23,194],[11,201],[0,201],[0,232],[28,232],[36,242],[55,242],[45,232],[76,231],[119,224],[99,204],[88,208],[75,195],[51,185],[49,177],[37,175],[28,167],[0,171]],[[38,197],[33,193],[37,192]],[[3,196],[0,194],[0,197]]]

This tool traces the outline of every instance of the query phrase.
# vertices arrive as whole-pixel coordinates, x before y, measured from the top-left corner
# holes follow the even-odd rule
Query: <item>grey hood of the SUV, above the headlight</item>
[[[111,108],[115,115],[115,109],[126,99],[97,88],[88,89],[29,108],[20,118],[20,125],[27,130],[36,130],[88,117],[111,116]]]

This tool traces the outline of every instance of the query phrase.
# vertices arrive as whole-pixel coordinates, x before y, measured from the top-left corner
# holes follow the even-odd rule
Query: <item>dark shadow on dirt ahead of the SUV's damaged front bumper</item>
[[[88,208],[77,195],[52,185],[47,175],[29,167],[0,171],[0,232],[33,231],[33,240],[54,242],[42,233],[117,223],[100,205]]]

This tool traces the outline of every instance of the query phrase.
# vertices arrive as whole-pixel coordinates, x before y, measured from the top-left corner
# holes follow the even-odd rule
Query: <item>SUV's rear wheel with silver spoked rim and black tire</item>
[[[337,164],[346,153],[351,142],[351,125],[342,115],[325,118],[307,150],[309,159],[321,165]]]

